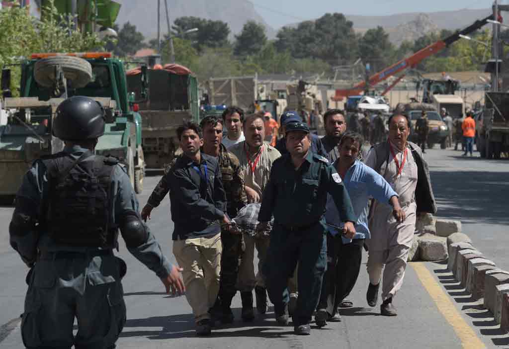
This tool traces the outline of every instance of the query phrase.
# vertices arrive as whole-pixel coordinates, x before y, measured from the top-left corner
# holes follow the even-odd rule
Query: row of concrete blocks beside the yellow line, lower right
[[[509,332],[509,272],[497,268],[461,232],[447,238],[447,249],[447,268],[473,300],[484,299],[484,307]]]

